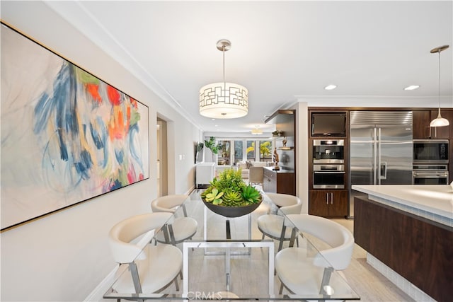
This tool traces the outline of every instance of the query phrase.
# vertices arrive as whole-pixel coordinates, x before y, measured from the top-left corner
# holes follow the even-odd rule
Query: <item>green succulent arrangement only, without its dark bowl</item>
[[[201,194],[205,202],[223,207],[243,207],[261,202],[261,194],[255,187],[246,185],[241,170],[226,169],[210,182]]]

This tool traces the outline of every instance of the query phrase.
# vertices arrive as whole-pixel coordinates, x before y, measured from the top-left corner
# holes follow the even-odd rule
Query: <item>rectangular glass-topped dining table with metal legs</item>
[[[326,280],[312,277],[311,282],[319,284],[319,291],[299,294],[292,294],[287,289],[281,291],[281,283],[274,267],[278,243],[270,238],[263,238],[257,224],[261,215],[281,214],[265,192],[262,192],[263,202],[255,211],[234,218],[224,217],[207,209],[200,197],[201,192],[202,190],[194,190],[173,214],[173,217],[188,216],[197,221],[195,235],[183,243],[176,244],[183,253],[182,280],[178,277],[178,289],[172,283],[154,294],[116,292],[113,290],[114,282],[120,278],[120,274],[130,274],[125,268],[117,273],[117,278],[103,298],[132,301],[360,299],[343,274],[335,270],[332,272],[332,269],[327,283]],[[171,221],[172,219],[169,223]],[[149,244],[154,245],[156,242],[151,240]],[[319,263],[311,261],[320,257],[319,250],[328,248],[325,243],[297,229],[294,231],[294,238],[286,241],[283,248],[288,248],[289,245],[304,249],[306,260],[312,265]],[[329,288],[327,292],[323,290],[326,285]]]

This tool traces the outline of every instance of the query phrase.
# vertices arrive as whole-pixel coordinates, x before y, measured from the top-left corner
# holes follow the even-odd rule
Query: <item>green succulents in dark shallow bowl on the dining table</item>
[[[214,213],[239,217],[254,211],[263,196],[255,187],[242,179],[241,170],[226,169],[210,182],[201,194],[203,202]]]

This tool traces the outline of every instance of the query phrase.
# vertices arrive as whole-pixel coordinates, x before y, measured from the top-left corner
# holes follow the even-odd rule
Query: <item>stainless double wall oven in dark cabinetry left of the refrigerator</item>
[[[345,141],[343,139],[314,139],[313,188],[345,188]]]

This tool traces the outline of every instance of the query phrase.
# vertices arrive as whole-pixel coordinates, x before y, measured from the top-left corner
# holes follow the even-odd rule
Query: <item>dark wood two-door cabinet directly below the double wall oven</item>
[[[311,190],[309,214],[328,218],[348,216],[348,190]]]

